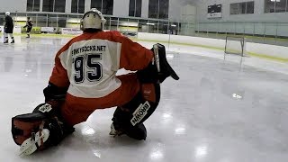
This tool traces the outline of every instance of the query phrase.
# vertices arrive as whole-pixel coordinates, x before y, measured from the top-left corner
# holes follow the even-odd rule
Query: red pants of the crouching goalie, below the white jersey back
[[[86,121],[97,109],[111,108],[129,103],[139,93],[139,80],[137,75],[130,73],[117,76],[121,86],[111,94],[101,98],[80,98],[67,94],[66,102],[61,107],[62,116],[70,125]]]

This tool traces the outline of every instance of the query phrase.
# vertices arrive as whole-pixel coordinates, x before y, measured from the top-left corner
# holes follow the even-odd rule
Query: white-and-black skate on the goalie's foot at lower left
[[[28,156],[37,150],[49,138],[49,130],[43,129],[35,133],[34,137],[26,139],[20,148],[20,156]],[[37,144],[37,146],[36,146]]]

